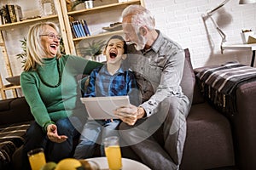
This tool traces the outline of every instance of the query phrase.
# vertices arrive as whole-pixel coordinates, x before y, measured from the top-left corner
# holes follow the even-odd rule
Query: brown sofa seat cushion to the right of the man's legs
[[[235,165],[228,119],[207,102],[192,105],[180,169],[209,169]]]

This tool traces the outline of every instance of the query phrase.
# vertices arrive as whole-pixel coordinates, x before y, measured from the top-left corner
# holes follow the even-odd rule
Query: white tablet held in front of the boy
[[[130,105],[129,96],[80,98],[88,112],[89,119],[117,119],[113,111],[120,106]]]

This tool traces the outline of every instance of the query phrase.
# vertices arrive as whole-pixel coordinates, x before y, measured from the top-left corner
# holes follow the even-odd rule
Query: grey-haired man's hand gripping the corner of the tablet
[[[137,107],[135,105],[129,105],[127,107],[119,107],[113,111],[114,115],[118,116],[123,122],[134,125],[138,119],[143,118],[146,112],[142,107]]]

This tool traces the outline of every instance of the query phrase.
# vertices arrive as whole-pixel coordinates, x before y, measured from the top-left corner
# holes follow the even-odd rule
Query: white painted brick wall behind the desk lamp
[[[211,20],[206,20],[204,24],[201,18],[201,14],[223,1],[144,0],[144,3],[155,16],[156,28],[179,42],[183,48],[189,48],[194,68],[223,64],[230,60],[250,65],[252,52],[224,50],[224,54],[221,54],[221,37]],[[240,5],[238,2],[239,0],[230,1],[212,15],[229,43],[241,42],[241,29],[256,31],[256,3]]]

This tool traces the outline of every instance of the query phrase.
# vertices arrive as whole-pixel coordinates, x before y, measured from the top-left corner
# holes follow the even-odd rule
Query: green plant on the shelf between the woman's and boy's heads
[[[83,56],[90,56],[91,59],[96,60],[96,57],[102,54],[102,48],[105,46],[105,40],[88,42],[88,46],[78,48],[79,53]]]

